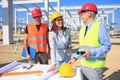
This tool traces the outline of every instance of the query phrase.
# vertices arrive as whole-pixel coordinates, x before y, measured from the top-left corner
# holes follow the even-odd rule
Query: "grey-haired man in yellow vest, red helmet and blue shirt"
[[[69,63],[73,64],[80,57],[84,80],[103,80],[103,67],[111,48],[106,27],[101,22],[95,21],[97,13],[97,6],[93,3],[84,4],[78,11],[84,23],[79,33],[79,51],[84,54],[76,53]]]

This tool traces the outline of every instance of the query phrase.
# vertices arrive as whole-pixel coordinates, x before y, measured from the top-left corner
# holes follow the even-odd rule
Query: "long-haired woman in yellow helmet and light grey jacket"
[[[50,16],[50,21],[52,23],[49,32],[51,67],[48,71],[53,71],[56,66],[70,60],[68,50],[71,48],[71,38],[70,29],[64,27],[63,16],[60,13],[54,12]]]

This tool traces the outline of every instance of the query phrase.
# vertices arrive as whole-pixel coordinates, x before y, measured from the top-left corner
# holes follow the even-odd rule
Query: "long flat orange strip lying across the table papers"
[[[42,71],[24,71],[24,72],[10,72],[10,73],[0,73],[1,76],[16,76],[16,75],[28,75],[28,74],[39,74],[41,75]]]

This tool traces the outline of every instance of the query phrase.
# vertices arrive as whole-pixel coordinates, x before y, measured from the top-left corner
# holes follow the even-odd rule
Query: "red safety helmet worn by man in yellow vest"
[[[86,3],[82,6],[82,8],[78,11],[78,14],[81,14],[83,11],[93,11],[98,13],[97,6],[93,3]]]

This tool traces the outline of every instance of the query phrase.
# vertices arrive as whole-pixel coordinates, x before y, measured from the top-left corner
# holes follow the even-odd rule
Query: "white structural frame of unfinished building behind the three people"
[[[52,3],[56,5],[53,6]],[[77,11],[81,8],[79,6],[60,6],[60,0],[1,0],[0,7],[2,7],[2,14],[0,14],[0,23],[3,31],[3,44],[13,43],[13,34],[17,34],[19,25],[26,26],[31,21],[31,11],[38,7],[43,12],[43,21],[49,24],[49,16],[53,11],[58,11],[63,14],[66,26],[70,26],[72,30],[78,29],[82,26],[82,22],[77,15]],[[105,23],[107,28],[111,30],[111,25],[115,25],[115,11],[120,8],[120,5],[97,5],[98,15],[96,20]],[[109,10],[107,10],[109,9]],[[24,13],[24,14],[23,14]],[[23,16],[19,16],[23,15]],[[109,15],[112,15],[110,21]],[[21,20],[22,19],[22,20]],[[22,21],[22,22],[21,22]]]

